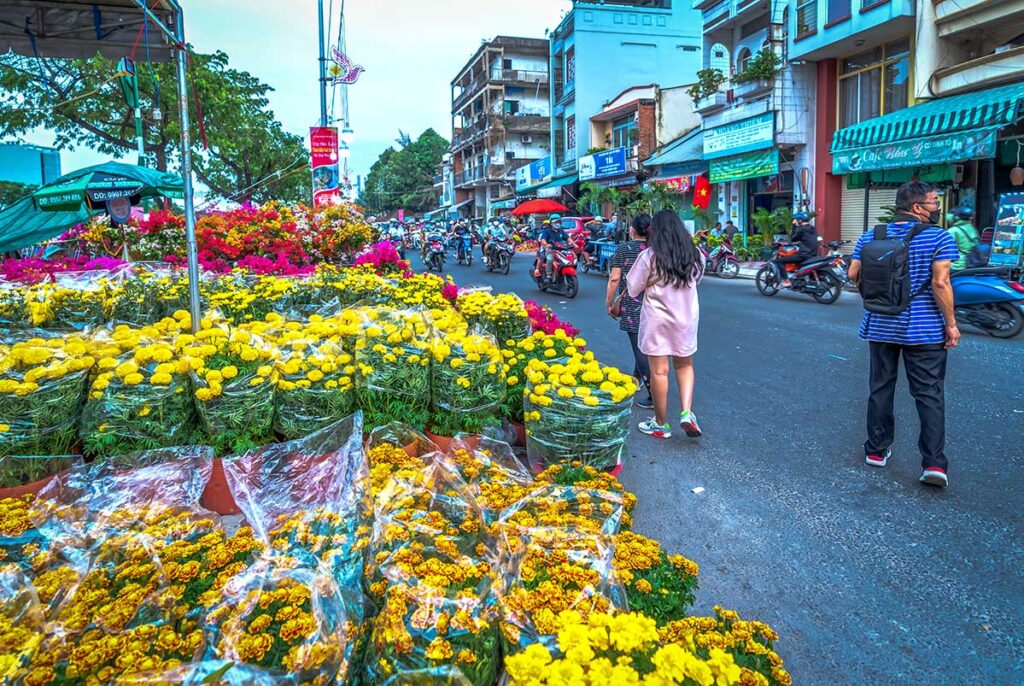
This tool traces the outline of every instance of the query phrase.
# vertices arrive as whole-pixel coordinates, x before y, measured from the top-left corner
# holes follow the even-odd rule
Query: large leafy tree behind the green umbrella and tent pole
[[[180,165],[174,65],[138,65],[146,164],[161,171]],[[303,140],[284,131],[268,109],[270,87],[228,67],[223,52],[189,50],[189,118],[196,175],[215,195],[238,201],[308,196]],[[114,79],[117,65],[89,59],[36,59],[0,55],[0,137],[36,127],[54,132],[61,148],[85,145],[122,157],[136,149],[134,114]],[[195,89],[193,92],[191,89]],[[201,144],[196,93],[209,144]],[[159,110],[159,116],[157,112]],[[296,173],[261,183],[275,172]],[[254,187],[255,186],[255,187]]]

